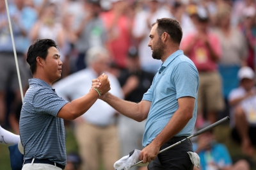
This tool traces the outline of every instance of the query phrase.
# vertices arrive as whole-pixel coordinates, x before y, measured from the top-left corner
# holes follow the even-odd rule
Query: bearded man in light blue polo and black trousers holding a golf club
[[[189,140],[170,150],[159,150],[185,139],[192,134],[196,121],[196,99],[199,85],[194,63],[179,50],[182,29],[175,19],[157,19],[152,24],[148,47],[152,58],[163,64],[156,73],[151,87],[136,104],[117,98],[111,93],[100,97],[116,111],[136,121],[147,119],[142,144],[145,147],[140,160],[149,170],[193,169],[188,151],[193,151]],[[93,79],[93,85],[97,85]]]

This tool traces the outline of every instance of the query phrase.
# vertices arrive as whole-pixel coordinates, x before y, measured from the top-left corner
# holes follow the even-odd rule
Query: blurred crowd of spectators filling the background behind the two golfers
[[[63,61],[61,80],[54,87],[67,100],[84,95],[90,79],[105,72],[113,79],[113,93],[125,100],[140,101],[161,65],[161,60],[152,58],[147,45],[151,25],[159,18],[177,19],[183,31],[180,49],[195,63],[200,76],[195,129],[228,115],[232,118],[230,136],[241,144],[244,155],[255,155],[255,1],[9,0],[8,6],[24,93],[31,78],[26,63],[28,47],[37,38],[50,38],[58,44]],[[79,86],[84,84],[81,81],[88,87]],[[81,162],[88,169],[98,168],[100,159],[96,157],[100,155],[104,168],[111,169],[118,157],[142,149],[145,122],[125,118],[103,103],[95,103],[79,120],[66,122],[75,127]],[[8,16],[1,2],[0,125],[15,134],[19,134],[21,105]],[[199,139],[200,151],[211,148],[202,143]],[[227,157],[227,166],[235,167]],[[204,159],[202,169],[211,166],[211,161]]]

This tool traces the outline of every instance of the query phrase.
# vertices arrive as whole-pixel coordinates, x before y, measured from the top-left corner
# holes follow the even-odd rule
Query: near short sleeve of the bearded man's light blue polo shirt
[[[180,97],[197,97],[199,76],[195,66],[186,61],[175,66],[172,81],[176,88],[176,99]]]

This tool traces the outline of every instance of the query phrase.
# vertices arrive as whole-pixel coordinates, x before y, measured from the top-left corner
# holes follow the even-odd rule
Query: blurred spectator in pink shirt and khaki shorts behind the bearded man
[[[188,34],[181,42],[181,49],[194,63],[199,72],[198,120],[203,123],[203,111],[206,118],[214,123],[217,112],[224,107],[221,95],[221,78],[217,63],[221,56],[221,45],[218,37],[208,30],[209,18],[204,8],[198,8],[196,31]]]

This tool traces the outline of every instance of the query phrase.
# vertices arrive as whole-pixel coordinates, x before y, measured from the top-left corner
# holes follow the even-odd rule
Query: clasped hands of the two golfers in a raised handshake
[[[91,89],[95,89],[99,96],[106,94],[111,89],[108,75],[102,73],[97,79],[93,79]]]

